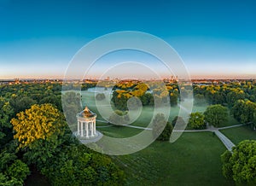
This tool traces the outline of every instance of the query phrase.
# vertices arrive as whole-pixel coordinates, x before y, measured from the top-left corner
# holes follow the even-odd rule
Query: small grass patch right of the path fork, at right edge
[[[221,132],[229,137],[234,144],[238,144],[243,140],[256,140],[256,131],[253,131],[250,126],[239,126],[230,129],[221,130]]]

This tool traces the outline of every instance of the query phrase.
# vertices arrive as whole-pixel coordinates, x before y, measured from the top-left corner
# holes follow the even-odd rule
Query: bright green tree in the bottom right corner
[[[240,142],[232,152],[221,155],[224,177],[233,179],[238,184],[256,184],[256,141]]]

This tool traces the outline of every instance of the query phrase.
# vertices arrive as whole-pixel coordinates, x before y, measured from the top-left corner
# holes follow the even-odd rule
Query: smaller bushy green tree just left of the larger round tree
[[[207,125],[205,123],[205,116],[202,113],[196,112],[191,113],[189,118],[189,128],[192,129],[206,129]]]

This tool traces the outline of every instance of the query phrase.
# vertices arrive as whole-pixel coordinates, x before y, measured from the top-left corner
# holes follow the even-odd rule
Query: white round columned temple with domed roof
[[[96,116],[96,113],[91,112],[87,107],[85,107],[81,113],[77,114],[77,137],[82,137],[85,139],[97,137],[98,132],[96,132]]]

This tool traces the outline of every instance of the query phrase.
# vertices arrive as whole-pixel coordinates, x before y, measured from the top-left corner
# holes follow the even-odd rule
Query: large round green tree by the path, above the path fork
[[[205,120],[209,125],[218,127],[228,121],[228,109],[222,105],[211,105],[204,113]]]

